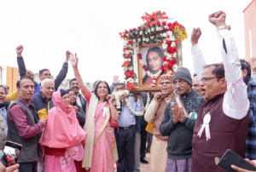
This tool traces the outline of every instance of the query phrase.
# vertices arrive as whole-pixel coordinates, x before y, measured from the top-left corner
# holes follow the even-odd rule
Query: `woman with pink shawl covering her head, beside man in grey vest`
[[[68,90],[53,95],[54,107],[48,112],[47,125],[39,143],[44,152],[44,170],[47,172],[76,172],[74,161],[84,155],[82,141],[87,133],[79,125],[73,106],[69,106]]]

